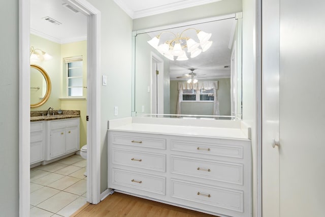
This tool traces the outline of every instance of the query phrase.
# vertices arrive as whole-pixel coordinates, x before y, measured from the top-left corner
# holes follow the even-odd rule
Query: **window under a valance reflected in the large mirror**
[[[214,100],[213,89],[183,89],[182,101],[210,101]]]

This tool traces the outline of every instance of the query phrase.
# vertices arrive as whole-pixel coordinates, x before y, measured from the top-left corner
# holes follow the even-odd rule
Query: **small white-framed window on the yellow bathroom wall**
[[[66,64],[66,84],[63,86],[67,97],[83,97],[82,56],[63,58]]]

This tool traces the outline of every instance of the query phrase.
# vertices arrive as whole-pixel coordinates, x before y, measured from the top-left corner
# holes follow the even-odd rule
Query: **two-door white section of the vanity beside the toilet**
[[[79,118],[48,120],[45,160],[79,150]]]

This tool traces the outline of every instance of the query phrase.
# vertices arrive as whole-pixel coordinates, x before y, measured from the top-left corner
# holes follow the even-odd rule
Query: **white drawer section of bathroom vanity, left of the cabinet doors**
[[[30,122],[30,164],[44,160],[44,121]]]

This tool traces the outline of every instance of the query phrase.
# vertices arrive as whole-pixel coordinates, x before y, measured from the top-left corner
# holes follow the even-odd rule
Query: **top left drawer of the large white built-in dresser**
[[[153,138],[154,135],[150,135],[151,137],[134,133],[111,133],[110,135],[113,145],[131,145],[136,147],[166,149],[166,139],[156,139]]]

